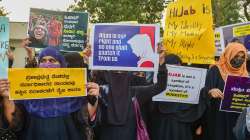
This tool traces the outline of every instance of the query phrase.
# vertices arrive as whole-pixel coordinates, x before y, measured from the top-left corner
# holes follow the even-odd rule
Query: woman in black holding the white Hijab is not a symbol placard
[[[181,65],[181,59],[169,54],[166,64]],[[192,140],[193,123],[198,120],[206,109],[206,97],[201,92],[199,104],[174,102],[153,102],[148,124],[151,140]]]

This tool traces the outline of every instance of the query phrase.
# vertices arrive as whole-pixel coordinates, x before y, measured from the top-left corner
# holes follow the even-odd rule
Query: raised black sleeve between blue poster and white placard
[[[159,67],[159,72],[157,75],[157,83],[148,86],[134,86],[132,87],[132,94],[136,96],[140,106],[145,104],[147,101],[163,90],[166,89],[167,85],[167,69],[165,65]]]

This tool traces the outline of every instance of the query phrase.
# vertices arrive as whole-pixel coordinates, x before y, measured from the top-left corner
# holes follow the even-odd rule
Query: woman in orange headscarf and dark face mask
[[[229,43],[218,63],[208,71],[205,86],[209,91],[210,106],[204,115],[204,139],[236,140],[233,127],[239,114],[222,112],[219,108],[227,76],[248,76],[246,60],[246,48],[240,43]]]

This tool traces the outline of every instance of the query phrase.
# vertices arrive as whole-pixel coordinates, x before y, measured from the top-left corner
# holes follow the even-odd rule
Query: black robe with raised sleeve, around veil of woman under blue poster
[[[107,103],[102,105],[102,117],[101,124],[97,129],[98,140],[136,140],[136,118],[135,112],[132,107],[132,97],[136,96],[140,107],[142,108],[146,102],[150,101],[151,98],[159,94],[166,87],[167,71],[165,65],[160,66],[158,73],[158,82],[154,85],[148,86],[131,86],[127,94],[130,97],[128,100],[128,112],[125,113],[126,121],[122,124],[113,124],[108,120],[108,107],[110,98],[107,98]],[[122,100],[122,99],[121,99]],[[126,103],[127,104],[127,103]]]

